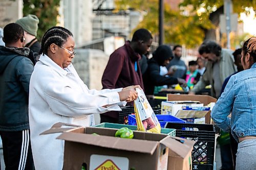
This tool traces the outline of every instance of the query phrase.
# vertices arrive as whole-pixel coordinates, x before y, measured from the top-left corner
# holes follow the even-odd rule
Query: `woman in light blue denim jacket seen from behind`
[[[244,71],[231,76],[211,117],[239,142],[236,169],[256,169],[256,37],[244,42],[241,62]]]

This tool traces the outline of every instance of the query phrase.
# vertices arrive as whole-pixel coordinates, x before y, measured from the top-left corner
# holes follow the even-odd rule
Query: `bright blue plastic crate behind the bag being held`
[[[169,115],[169,114],[157,114],[157,119],[160,123],[161,128],[165,128],[166,123],[171,122],[171,123],[186,123],[185,120],[182,120],[178,117]],[[136,123],[136,118],[134,114],[128,115],[128,125],[135,125],[137,126]]]

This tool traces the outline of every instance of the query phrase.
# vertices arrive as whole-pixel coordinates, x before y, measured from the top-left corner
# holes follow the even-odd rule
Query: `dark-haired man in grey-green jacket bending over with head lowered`
[[[237,71],[232,53],[232,50],[221,48],[215,41],[203,42],[199,47],[199,54],[208,60],[206,70],[189,94],[195,94],[211,85],[211,96],[218,99],[224,80]]]

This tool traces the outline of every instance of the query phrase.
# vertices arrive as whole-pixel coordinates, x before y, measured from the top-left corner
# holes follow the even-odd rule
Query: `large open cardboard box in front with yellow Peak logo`
[[[114,137],[117,129],[57,128],[56,124],[42,134],[61,131],[63,133],[57,139],[65,140],[63,169],[81,169],[82,164],[86,165],[86,169],[185,169],[183,164],[185,167],[189,162],[187,153],[191,154],[195,143],[183,138],[139,131],[134,131],[134,139],[123,139]],[[191,144],[191,148],[187,143]],[[183,162],[182,167],[174,164],[176,161],[173,162],[173,159]]]

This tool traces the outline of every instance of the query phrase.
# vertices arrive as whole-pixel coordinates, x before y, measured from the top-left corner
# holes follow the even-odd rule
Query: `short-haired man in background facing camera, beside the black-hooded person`
[[[187,66],[184,63],[184,61],[180,59],[182,55],[182,46],[175,45],[173,48],[173,52],[174,52],[174,59],[170,61],[170,63],[166,66],[166,68],[168,70],[172,69],[174,71],[174,74],[172,75],[172,77],[185,79]]]

